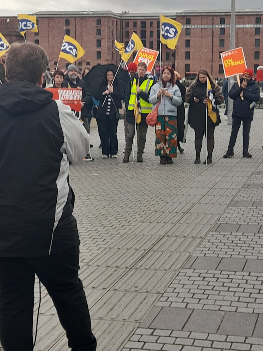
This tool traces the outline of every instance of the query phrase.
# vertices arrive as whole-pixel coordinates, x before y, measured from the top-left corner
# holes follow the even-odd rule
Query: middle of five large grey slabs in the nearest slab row
[[[184,326],[184,331],[216,333],[223,319],[224,312],[194,310]]]

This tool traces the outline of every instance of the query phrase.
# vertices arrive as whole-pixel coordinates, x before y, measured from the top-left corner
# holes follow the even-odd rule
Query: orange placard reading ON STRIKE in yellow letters
[[[243,47],[221,52],[225,78],[242,74],[247,68]]]

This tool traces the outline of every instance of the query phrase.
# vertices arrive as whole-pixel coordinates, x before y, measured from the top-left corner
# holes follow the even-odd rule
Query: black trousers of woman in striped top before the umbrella
[[[110,119],[107,115],[105,120],[100,120],[100,137],[103,155],[117,155],[118,153],[118,122],[118,119]]]

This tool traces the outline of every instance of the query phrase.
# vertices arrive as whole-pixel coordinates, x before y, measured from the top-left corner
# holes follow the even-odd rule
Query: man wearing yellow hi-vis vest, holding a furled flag
[[[130,79],[126,90],[125,90],[125,107],[127,111],[127,137],[125,140],[125,153],[123,162],[129,162],[129,157],[131,153],[131,148],[133,145],[133,138],[135,134],[135,116],[134,116],[134,106],[136,101],[136,94],[140,97],[141,104],[141,122],[136,125],[136,128],[139,127],[140,137],[138,140],[138,151],[137,151],[137,162],[143,162],[142,153],[144,150],[144,145],[146,142],[146,133],[147,133],[147,124],[146,124],[146,116],[151,112],[153,107],[152,104],[149,103],[149,95],[151,87],[154,82],[152,79],[149,79],[146,74],[147,65],[143,62],[140,62],[137,66],[137,73],[134,78]],[[139,85],[138,85],[139,79]]]

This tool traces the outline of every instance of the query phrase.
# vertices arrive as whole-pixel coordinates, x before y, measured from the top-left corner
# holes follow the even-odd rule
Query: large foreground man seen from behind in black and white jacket
[[[33,350],[36,274],[69,347],[94,351],[69,185],[69,164],[87,155],[89,139],[70,108],[41,88],[48,64],[39,45],[15,43],[0,86],[0,340],[4,350]]]

